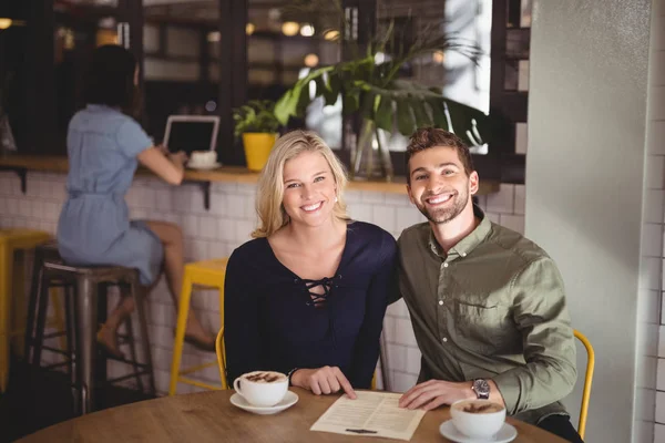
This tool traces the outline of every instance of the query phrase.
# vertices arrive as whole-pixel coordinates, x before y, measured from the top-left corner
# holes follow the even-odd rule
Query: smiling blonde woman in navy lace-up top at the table
[[[395,238],[346,213],[344,166],[313,132],[275,144],[258,182],[259,226],[226,269],[229,381],[288,374],[328,394],[369,388],[395,287]]]

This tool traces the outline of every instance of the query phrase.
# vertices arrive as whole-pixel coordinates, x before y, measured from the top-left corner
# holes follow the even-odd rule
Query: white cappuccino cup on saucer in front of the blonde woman
[[[254,371],[235,379],[233,389],[254,406],[274,406],[288,391],[288,378],[282,372]]]

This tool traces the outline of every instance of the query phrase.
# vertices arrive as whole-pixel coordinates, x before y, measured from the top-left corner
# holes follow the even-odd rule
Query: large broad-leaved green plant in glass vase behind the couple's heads
[[[323,8],[317,1],[304,4],[308,8],[298,6],[300,12],[311,7]],[[355,59],[311,70],[286,91],[275,106],[279,123],[285,125],[291,116],[301,116],[314,99],[324,97],[326,105],[332,105],[341,96],[344,114],[360,115],[362,122],[358,143],[351,150],[352,175],[364,174],[360,171],[364,154],[367,155],[367,159],[362,159],[367,167],[365,175],[372,175],[372,151],[378,145],[383,175],[391,179],[390,155],[382,146],[379,128],[409,136],[418,127],[437,126],[454,132],[470,146],[488,143],[491,135],[491,121],[482,111],[444,97],[440,89],[399,75],[402,66],[422,55],[456,51],[477,62],[480,50],[453,34],[442,35],[431,27],[421,29],[408,48],[402,44],[403,35],[396,34],[390,24],[366,51],[357,51]],[[311,82],[316,84],[314,94]]]

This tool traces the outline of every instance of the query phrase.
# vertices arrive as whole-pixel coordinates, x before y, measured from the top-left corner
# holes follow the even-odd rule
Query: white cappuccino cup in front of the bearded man
[[[489,400],[460,400],[450,405],[452,424],[472,439],[494,435],[505,421],[505,408]]]

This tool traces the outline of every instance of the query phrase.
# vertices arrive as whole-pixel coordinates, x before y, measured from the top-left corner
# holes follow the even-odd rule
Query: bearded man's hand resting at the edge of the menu
[[[442,404],[452,404],[458,400],[477,399],[471,382],[453,383],[442,380],[430,380],[411,388],[399,399],[399,406],[407,409],[421,408],[426,411]]]

